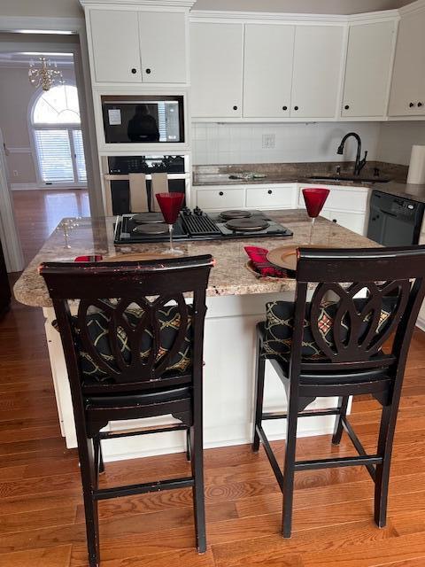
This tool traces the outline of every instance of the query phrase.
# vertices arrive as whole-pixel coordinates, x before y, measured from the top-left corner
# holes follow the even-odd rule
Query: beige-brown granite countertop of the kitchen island
[[[248,260],[243,250],[245,245],[259,245],[269,250],[281,245],[305,245],[310,238],[310,219],[304,210],[274,211],[267,214],[282,222],[294,233],[293,237],[249,238],[243,240],[209,240],[203,242],[179,243],[188,255],[211,253],[216,260],[210,276],[208,296],[245,295],[276,291],[293,291],[293,279],[258,279],[246,268]],[[14,286],[15,298],[28,306],[51,307],[48,291],[38,266],[43,261],[73,261],[76,256],[100,253],[104,259],[118,253],[141,252],[157,253],[166,249],[166,245],[113,245],[113,218],[80,219],[79,226],[70,233],[69,244],[60,231],[55,231],[42,246],[42,249],[28,265]],[[334,222],[318,218],[314,225],[313,244],[336,247],[371,247],[375,243],[361,237],[351,230],[344,229]]]

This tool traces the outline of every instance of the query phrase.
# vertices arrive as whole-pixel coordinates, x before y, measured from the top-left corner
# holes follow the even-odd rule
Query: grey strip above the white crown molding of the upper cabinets
[[[194,10],[357,14],[392,10],[413,0],[197,0]]]

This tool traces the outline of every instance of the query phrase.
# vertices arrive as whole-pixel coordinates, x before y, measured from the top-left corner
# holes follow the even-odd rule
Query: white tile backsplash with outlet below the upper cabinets
[[[349,140],[344,156],[336,149],[347,132],[357,132],[367,159],[376,159],[378,122],[315,122],[310,124],[217,124],[192,127],[195,165],[238,163],[290,163],[355,159],[357,144]],[[274,134],[274,148],[264,149],[263,135]]]

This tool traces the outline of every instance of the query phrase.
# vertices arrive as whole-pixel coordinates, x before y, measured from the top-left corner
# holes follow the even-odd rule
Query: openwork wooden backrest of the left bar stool
[[[181,384],[188,378],[192,381],[202,369],[205,292],[212,267],[210,255],[122,263],[42,264],[39,271],[55,308],[70,380],[75,385],[82,383],[84,351],[106,377],[98,386],[102,392],[122,390],[128,384],[134,390]],[[190,305],[186,302],[188,295],[193,297]],[[73,300],[78,300],[75,316],[71,315]],[[170,305],[174,309],[174,322],[170,323],[173,337],[165,350],[160,342],[159,312]],[[128,310],[135,309],[139,315],[130,322]],[[93,312],[104,317],[108,357],[99,353],[98,337],[89,330]],[[143,353],[146,339],[149,348],[145,344]],[[182,373],[175,372],[176,376],[170,378],[171,361],[188,340],[192,359],[186,373],[189,376],[184,379]]]

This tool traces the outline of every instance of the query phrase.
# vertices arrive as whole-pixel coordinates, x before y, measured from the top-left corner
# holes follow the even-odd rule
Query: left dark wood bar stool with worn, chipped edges
[[[205,552],[202,376],[210,255],[141,262],[45,263],[71,385],[89,565],[100,562],[97,502],[191,486],[197,549]],[[193,295],[190,304],[183,294]],[[71,315],[72,299],[78,313]],[[111,421],[171,414],[160,429],[101,431]],[[99,489],[101,440],[187,431],[191,476]]]

